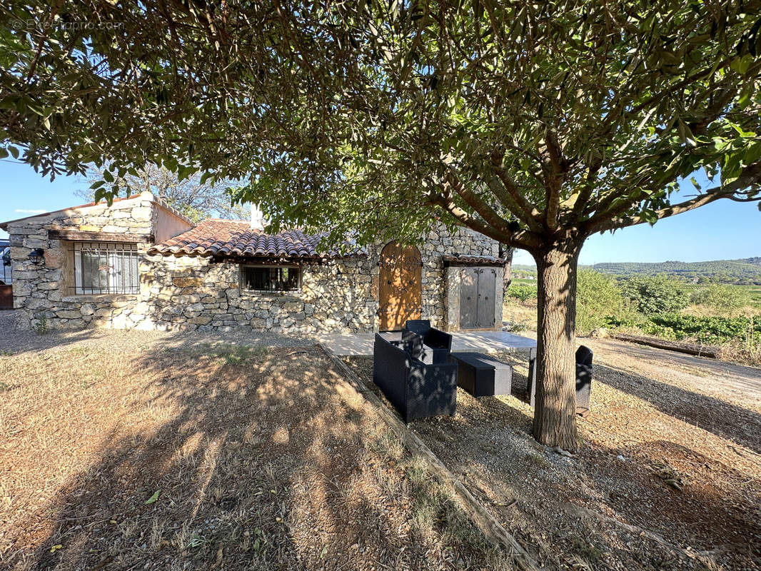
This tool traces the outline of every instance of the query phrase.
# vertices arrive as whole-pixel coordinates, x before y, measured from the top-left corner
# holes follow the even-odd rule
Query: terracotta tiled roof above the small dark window
[[[349,254],[336,249],[318,250],[324,234],[304,234],[301,230],[284,230],[265,234],[251,228],[245,220],[209,219],[200,222],[183,234],[156,244],[149,254],[176,254],[185,256],[221,257],[288,257],[288,258],[340,258],[365,256],[359,247]]]

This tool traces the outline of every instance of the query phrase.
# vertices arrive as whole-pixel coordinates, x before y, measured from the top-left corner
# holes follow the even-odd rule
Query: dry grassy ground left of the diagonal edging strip
[[[512,569],[314,346],[6,329],[0,431],[0,569]]]

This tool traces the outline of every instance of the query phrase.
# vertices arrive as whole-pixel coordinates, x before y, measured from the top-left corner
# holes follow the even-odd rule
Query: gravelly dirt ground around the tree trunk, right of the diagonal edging
[[[410,426],[548,569],[761,569],[761,370],[609,340],[572,458],[514,396]],[[371,383],[371,359],[349,363]]]

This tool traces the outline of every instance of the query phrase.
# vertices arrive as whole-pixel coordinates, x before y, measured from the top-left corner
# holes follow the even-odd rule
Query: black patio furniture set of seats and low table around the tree
[[[451,352],[452,336],[428,320],[407,321],[401,340],[375,334],[373,381],[405,423],[429,416],[454,416],[457,386],[474,397],[511,394],[512,366],[479,352]],[[536,351],[529,352],[527,400],[536,395]],[[576,411],[589,413],[592,352],[576,352]]]

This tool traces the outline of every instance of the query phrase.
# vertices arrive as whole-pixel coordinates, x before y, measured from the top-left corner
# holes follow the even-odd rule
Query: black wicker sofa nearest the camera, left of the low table
[[[377,333],[373,381],[399,410],[405,423],[428,416],[454,415],[457,365],[426,365]]]

